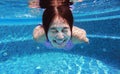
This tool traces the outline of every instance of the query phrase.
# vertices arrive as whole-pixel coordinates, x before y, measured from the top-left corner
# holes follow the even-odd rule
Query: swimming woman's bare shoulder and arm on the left
[[[41,43],[43,43],[46,40],[45,31],[42,25],[35,27],[33,31],[33,39],[36,42],[41,42]]]

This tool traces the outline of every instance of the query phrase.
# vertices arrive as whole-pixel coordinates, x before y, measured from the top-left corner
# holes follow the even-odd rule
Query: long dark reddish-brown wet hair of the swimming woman
[[[57,1],[58,5],[55,4],[55,1]],[[69,2],[69,0],[40,0],[40,7],[45,8],[42,16],[42,23],[47,40],[49,27],[56,16],[59,16],[60,18],[63,18],[63,20],[67,21],[72,35],[73,15],[69,7],[71,4],[72,2]]]

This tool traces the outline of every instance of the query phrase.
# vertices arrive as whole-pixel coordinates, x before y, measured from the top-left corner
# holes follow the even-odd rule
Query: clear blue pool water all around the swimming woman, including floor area
[[[70,51],[36,43],[32,31],[43,9],[28,0],[0,1],[0,74],[120,74],[120,0],[84,0],[73,5],[74,25],[89,44]]]

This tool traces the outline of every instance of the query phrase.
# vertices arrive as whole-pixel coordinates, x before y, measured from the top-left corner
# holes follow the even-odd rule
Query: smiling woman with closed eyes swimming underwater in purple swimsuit
[[[89,42],[86,31],[73,26],[73,15],[69,0],[41,0],[43,25],[33,31],[33,38],[40,43],[47,43],[55,48],[69,48],[73,44]],[[69,45],[69,46],[68,46]]]

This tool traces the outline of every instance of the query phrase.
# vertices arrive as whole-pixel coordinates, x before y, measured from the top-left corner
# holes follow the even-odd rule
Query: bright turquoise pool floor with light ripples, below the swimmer
[[[65,53],[12,57],[0,63],[0,74],[119,74],[99,60]]]

